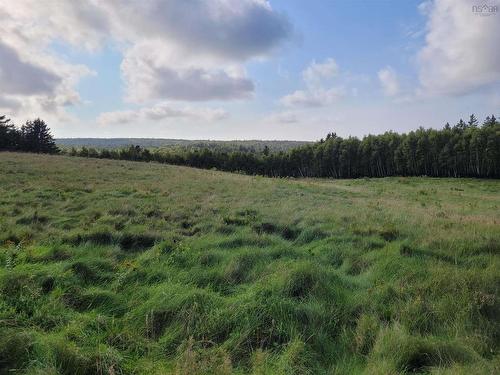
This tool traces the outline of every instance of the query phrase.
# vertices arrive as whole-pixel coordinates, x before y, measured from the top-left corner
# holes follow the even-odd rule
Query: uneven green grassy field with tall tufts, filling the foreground
[[[0,153],[0,373],[494,374],[500,181]]]

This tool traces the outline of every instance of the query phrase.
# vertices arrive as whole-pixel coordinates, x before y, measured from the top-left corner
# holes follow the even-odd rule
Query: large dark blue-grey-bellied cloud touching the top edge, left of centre
[[[291,33],[266,0],[114,0],[103,2],[116,32],[168,41],[197,55],[246,60],[265,55]],[[134,22],[128,22],[133,19]]]

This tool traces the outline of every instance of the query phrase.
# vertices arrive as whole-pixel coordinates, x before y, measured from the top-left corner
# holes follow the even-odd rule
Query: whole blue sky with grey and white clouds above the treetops
[[[500,117],[500,0],[0,0],[0,114],[318,140]]]

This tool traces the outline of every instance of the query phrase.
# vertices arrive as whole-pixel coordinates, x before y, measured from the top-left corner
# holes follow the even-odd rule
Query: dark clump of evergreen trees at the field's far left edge
[[[5,115],[0,116],[0,151],[24,151],[55,154],[58,147],[50,129],[41,119],[16,127]]]

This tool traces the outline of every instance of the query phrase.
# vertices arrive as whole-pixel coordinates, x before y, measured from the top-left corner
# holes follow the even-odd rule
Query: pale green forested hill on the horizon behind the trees
[[[94,148],[122,148],[130,145],[139,145],[145,148],[209,148],[239,151],[262,151],[266,146],[270,151],[286,151],[290,148],[309,144],[306,141],[212,141],[163,138],[58,138],[59,147],[94,147]]]

